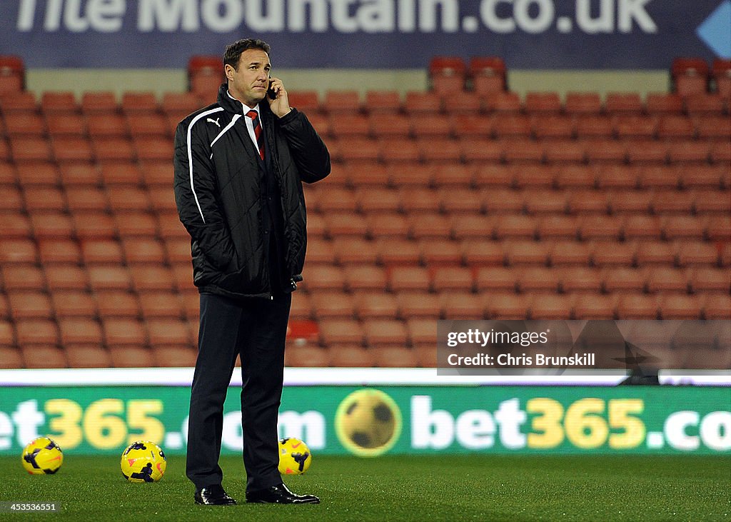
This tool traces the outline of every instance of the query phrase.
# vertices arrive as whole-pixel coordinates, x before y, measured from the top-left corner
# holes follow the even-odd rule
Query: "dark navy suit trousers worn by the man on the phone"
[[[200,333],[190,398],[186,474],[196,488],[221,483],[223,407],[241,357],[246,491],[281,483],[277,420],[291,294],[273,300],[200,295]]]

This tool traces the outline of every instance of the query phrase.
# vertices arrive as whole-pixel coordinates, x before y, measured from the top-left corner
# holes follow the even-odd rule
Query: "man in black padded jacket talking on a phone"
[[[270,47],[226,48],[218,100],[178,124],[175,202],[191,236],[200,291],[198,358],[186,474],[197,504],[235,504],[221,486],[223,404],[237,356],[246,502],[317,504],[279,474],[277,420],[291,292],[306,247],[302,181],[330,173],[330,154],[306,116],[270,77]]]

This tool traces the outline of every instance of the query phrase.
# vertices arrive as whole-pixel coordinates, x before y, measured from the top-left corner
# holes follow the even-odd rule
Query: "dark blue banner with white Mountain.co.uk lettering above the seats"
[[[181,68],[260,37],[275,67],[667,69],[731,56],[731,0],[13,0],[1,54],[28,67]]]

